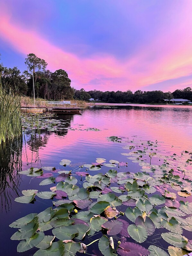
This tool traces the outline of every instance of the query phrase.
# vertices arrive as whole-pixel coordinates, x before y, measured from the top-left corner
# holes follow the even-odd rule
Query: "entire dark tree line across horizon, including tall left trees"
[[[22,95],[33,95],[33,79],[35,96],[45,100],[70,100],[77,99],[89,101],[90,98],[98,99],[108,103],[161,103],[163,99],[187,99],[192,101],[192,89],[187,87],[183,90],[164,93],[162,91],[141,91],[132,92],[102,92],[92,90],[86,92],[83,88],[76,90],[71,87],[71,80],[63,69],[51,72],[47,68],[47,62],[37,57],[34,53],[27,55],[25,59],[27,70],[22,74],[17,67],[7,68],[0,63],[0,80],[2,83],[10,84],[13,89],[16,87]]]

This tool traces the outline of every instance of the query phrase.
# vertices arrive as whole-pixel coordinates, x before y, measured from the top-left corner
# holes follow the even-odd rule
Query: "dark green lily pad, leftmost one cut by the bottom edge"
[[[40,249],[33,256],[61,256],[64,252],[64,244],[62,241],[52,243],[48,249]]]

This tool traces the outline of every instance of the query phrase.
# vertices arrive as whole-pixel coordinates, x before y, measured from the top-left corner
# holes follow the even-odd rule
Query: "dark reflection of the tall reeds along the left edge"
[[[9,210],[9,203],[18,195],[18,186],[22,167],[22,137],[6,144],[0,144],[0,196],[2,210]]]

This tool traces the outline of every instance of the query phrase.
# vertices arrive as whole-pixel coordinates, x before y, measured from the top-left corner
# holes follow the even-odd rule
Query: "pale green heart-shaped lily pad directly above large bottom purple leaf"
[[[129,235],[138,243],[143,243],[147,239],[148,232],[144,226],[132,224],[128,226],[127,230]]]

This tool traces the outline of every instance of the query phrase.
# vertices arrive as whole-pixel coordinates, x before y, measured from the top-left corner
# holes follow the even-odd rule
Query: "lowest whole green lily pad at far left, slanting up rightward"
[[[43,240],[44,236],[45,235],[43,232],[38,232],[32,235],[30,238],[22,240],[17,245],[17,252],[25,252],[37,246]]]

